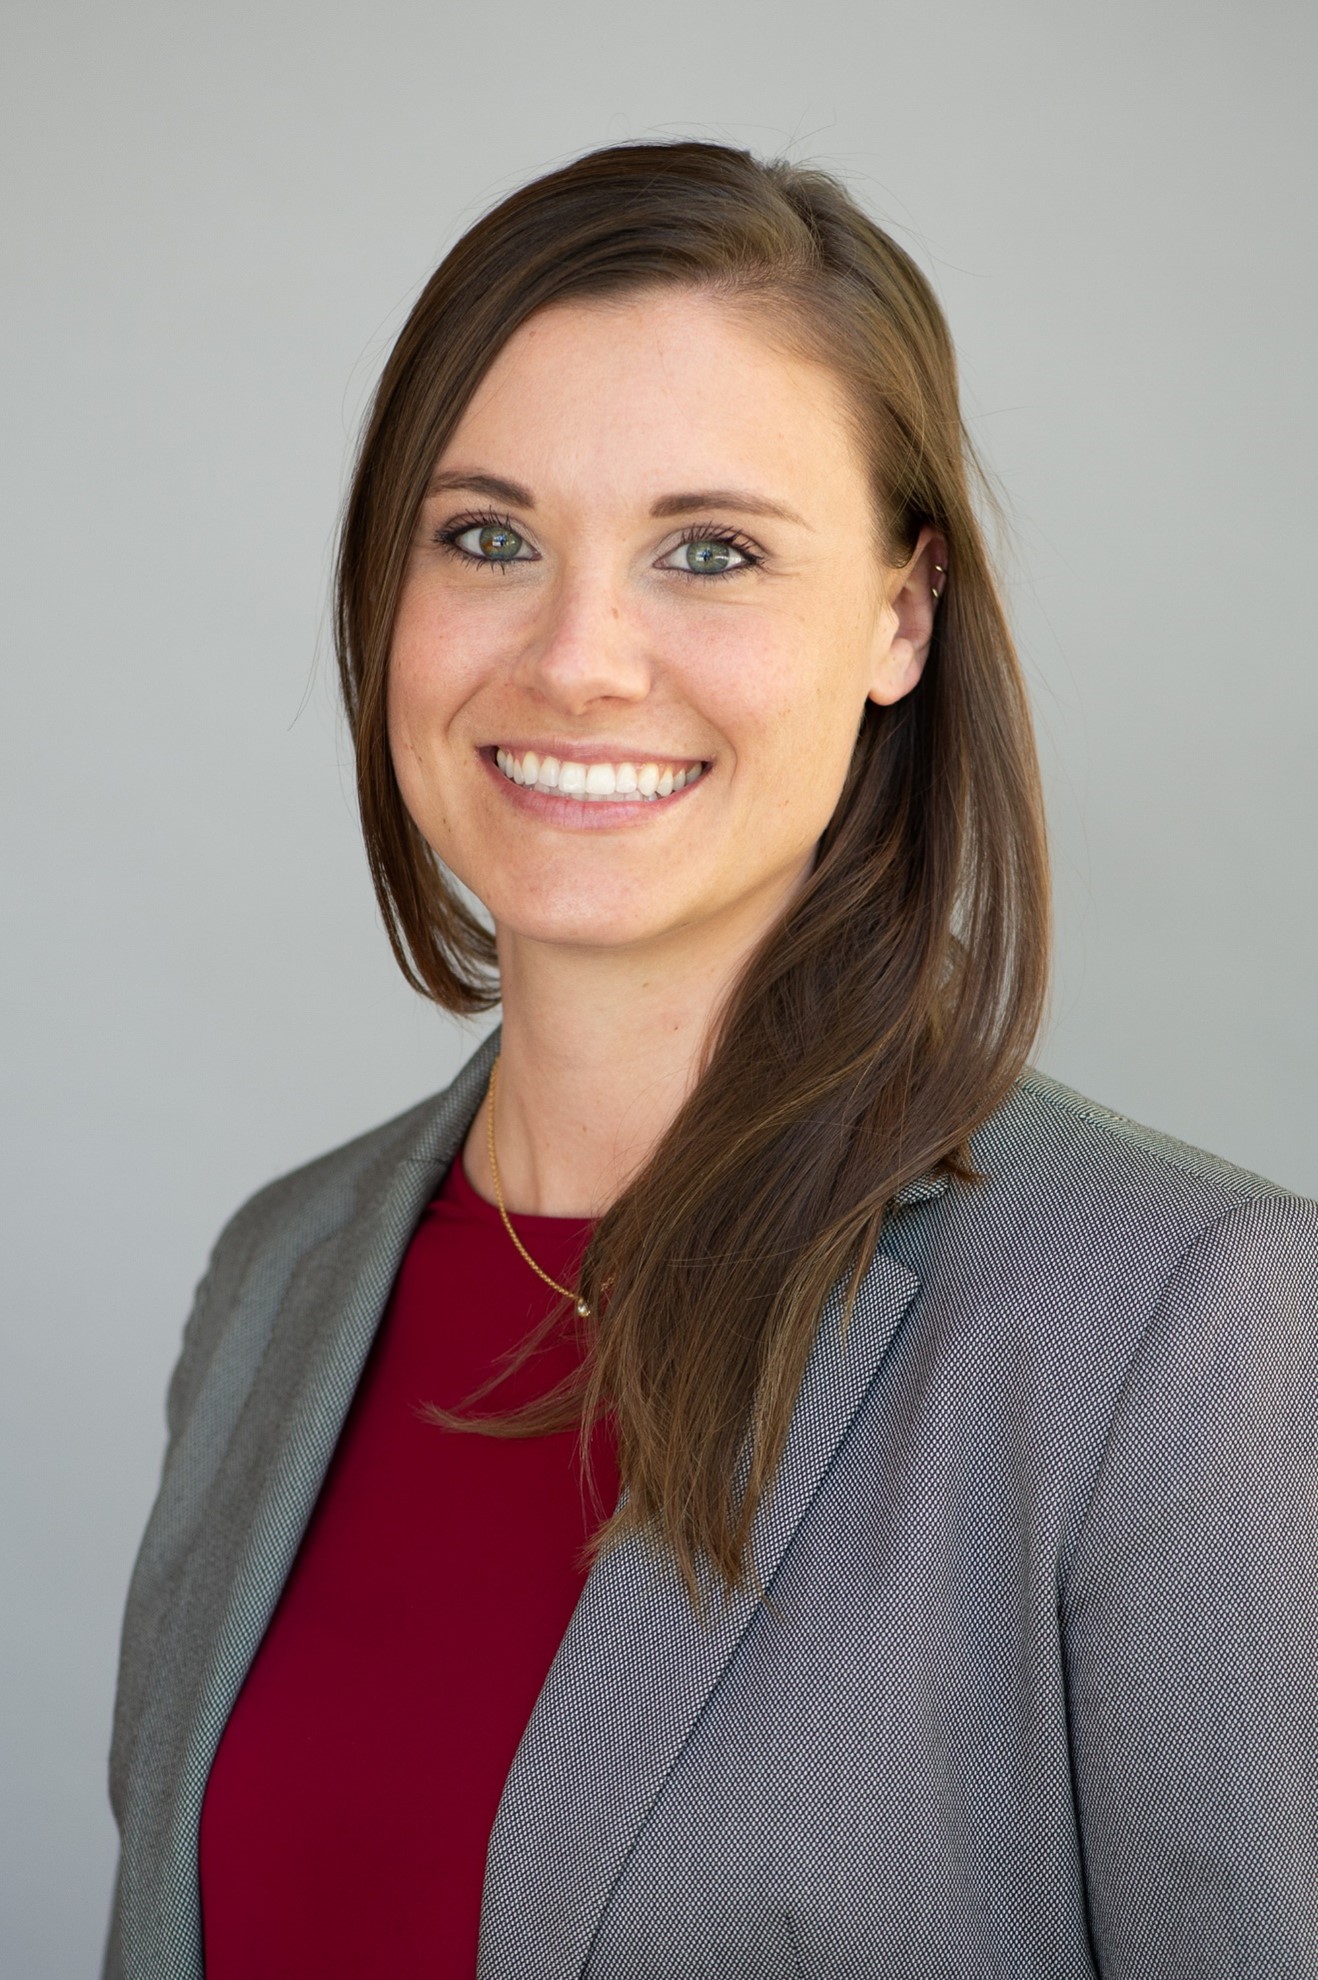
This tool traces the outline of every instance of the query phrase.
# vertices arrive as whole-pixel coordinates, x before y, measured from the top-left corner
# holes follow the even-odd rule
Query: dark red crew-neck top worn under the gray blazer
[[[562,1285],[590,1224],[513,1220]],[[208,1980],[471,1980],[485,1845],[530,1709],[613,1511],[582,1511],[576,1434],[483,1437],[463,1408],[558,1295],[518,1257],[461,1158],[398,1275],[311,1525],[220,1740],[202,1806]],[[465,1414],[544,1394],[564,1325]]]

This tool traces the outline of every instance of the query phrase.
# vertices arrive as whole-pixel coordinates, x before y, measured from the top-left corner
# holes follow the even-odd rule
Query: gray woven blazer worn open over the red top
[[[206,1774],[489,1073],[222,1234],[133,1576],[105,1972],[202,1974]],[[1025,1077],[823,1309],[697,1624],[592,1570],[495,1822],[481,1980],[1314,1980],[1318,1206]],[[402,1980],[402,1976],[382,1976]]]

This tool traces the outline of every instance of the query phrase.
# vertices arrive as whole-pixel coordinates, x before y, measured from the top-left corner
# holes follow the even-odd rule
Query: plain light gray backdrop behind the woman
[[[592,145],[839,170],[932,275],[1013,519],[1041,1063],[1318,1194],[1314,10],[319,0],[4,16],[0,1970],[93,1970],[119,1612],[206,1249],[441,1085],[327,644],[437,257]]]

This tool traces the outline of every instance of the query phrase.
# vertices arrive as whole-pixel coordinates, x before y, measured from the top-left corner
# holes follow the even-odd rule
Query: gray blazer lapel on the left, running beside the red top
[[[202,1798],[224,1725],[275,1610],[317,1501],[362,1364],[422,1210],[449,1166],[481,1103],[497,1051],[493,1034],[467,1061],[441,1103],[422,1117],[412,1142],[394,1144],[354,1184],[346,1210],[321,1216],[329,1234],[291,1230],[297,1255],[273,1311],[235,1325],[259,1335],[253,1380],[214,1477],[158,1641],[158,1673],[137,1738],[141,1802],[152,1820],[125,1835],[125,1940],[142,1942],[168,1921],[170,1980],[202,1974],[198,1832]],[[269,1295],[267,1295],[269,1297]],[[220,1376],[222,1380],[222,1376]],[[208,1434],[224,1396],[202,1394],[172,1463],[194,1457],[188,1436]],[[164,1497],[164,1495],[162,1495]],[[160,1806],[160,1780],[174,1782]]]

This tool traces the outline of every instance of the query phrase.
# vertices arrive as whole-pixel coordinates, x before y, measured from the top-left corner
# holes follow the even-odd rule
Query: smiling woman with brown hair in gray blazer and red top
[[[342,687],[503,1026],[216,1245],[107,1974],[1318,1974],[1318,1210],[1027,1069],[968,459],[914,265],[716,145],[416,305]]]

